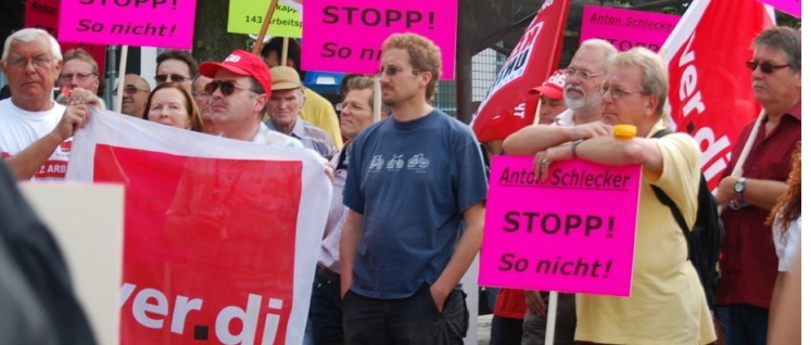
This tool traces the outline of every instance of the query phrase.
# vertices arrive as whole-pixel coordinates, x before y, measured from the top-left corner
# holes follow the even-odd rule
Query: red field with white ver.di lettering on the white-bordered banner
[[[284,344],[301,165],[97,146],[127,188],[122,344]]]

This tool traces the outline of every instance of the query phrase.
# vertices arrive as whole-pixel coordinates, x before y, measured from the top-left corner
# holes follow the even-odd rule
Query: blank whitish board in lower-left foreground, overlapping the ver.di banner
[[[96,341],[119,344],[124,187],[25,182],[20,191],[59,243]]]

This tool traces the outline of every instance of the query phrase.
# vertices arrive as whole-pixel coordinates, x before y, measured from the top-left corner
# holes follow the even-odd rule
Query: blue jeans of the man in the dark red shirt
[[[726,344],[765,345],[769,309],[746,304],[724,306],[728,310]]]

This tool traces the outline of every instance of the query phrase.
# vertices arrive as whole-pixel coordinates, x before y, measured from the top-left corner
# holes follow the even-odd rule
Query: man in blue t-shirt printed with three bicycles
[[[440,61],[418,35],[382,46],[391,116],[355,138],[344,187],[346,344],[461,344],[467,332],[458,284],[481,246],[486,180],[472,131],[428,103]]]

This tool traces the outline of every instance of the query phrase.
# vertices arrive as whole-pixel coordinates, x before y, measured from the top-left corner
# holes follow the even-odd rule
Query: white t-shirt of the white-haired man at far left
[[[53,131],[64,113],[65,106],[55,102],[49,111],[28,112],[14,105],[11,99],[0,101],[0,155],[5,158],[30,146]],[[64,179],[72,143],[69,138],[60,144],[31,180]]]

